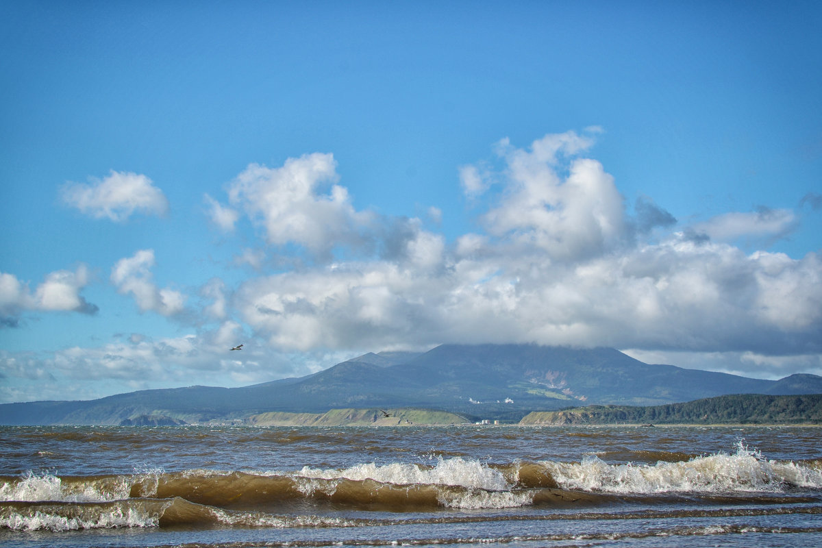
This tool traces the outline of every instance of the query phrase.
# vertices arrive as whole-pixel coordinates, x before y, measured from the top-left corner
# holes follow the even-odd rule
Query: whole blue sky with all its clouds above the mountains
[[[441,343],[822,375],[820,26],[801,0],[2,1],[0,403]]]

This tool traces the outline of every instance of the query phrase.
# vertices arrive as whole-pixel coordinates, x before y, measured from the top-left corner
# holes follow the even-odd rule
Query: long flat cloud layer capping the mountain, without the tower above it
[[[439,268],[382,260],[252,280],[238,307],[271,344],[299,350],[534,342],[822,352],[822,284],[797,283],[822,269],[815,255],[672,240],[576,264],[538,253],[434,256]]]

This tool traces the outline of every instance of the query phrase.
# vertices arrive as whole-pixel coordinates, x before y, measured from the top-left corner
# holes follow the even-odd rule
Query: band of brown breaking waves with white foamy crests
[[[769,461],[739,444],[713,454],[655,464],[487,464],[439,458],[436,464],[362,463],[287,472],[145,471],[93,477],[0,477],[0,527],[12,530],[167,527],[180,523],[242,527],[353,527],[311,508],[358,510],[504,509],[552,504],[579,508],[619,495],[778,495],[822,489],[820,461]],[[751,499],[754,501],[755,499]],[[295,503],[301,515],[292,515]],[[307,514],[307,515],[303,515]]]

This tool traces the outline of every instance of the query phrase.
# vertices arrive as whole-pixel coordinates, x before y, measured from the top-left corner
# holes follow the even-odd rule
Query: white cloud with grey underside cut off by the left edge
[[[14,274],[0,273],[0,325],[13,326],[22,311],[70,311],[95,314],[99,308],[87,302],[81,291],[90,281],[85,265],[76,270],[56,270],[46,275],[32,292]]]

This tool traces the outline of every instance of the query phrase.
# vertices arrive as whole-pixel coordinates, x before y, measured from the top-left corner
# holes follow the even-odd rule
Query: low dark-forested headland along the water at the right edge
[[[822,425],[822,394],[769,396],[733,394],[650,407],[591,405],[561,411],[535,411],[521,425],[607,424],[761,424]]]

